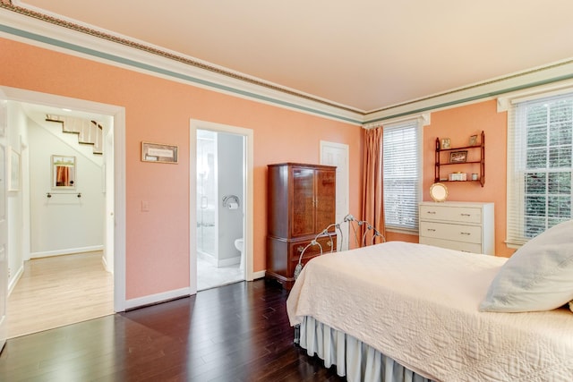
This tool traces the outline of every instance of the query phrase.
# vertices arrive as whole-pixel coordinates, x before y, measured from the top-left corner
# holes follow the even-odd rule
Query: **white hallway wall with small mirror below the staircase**
[[[28,119],[30,152],[30,256],[101,250],[105,194],[102,168],[71,145]],[[51,188],[51,156],[76,157],[76,189]],[[53,194],[47,192],[69,192]],[[81,198],[77,193],[81,192]]]

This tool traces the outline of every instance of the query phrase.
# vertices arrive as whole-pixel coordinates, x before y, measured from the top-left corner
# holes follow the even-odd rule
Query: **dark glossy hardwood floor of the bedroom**
[[[293,344],[287,293],[257,280],[8,340],[0,381],[343,381]]]

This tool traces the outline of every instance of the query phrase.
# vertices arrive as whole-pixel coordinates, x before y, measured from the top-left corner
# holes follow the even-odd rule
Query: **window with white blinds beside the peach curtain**
[[[384,126],[384,219],[387,229],[418,229],[421,164],[418,120]]]

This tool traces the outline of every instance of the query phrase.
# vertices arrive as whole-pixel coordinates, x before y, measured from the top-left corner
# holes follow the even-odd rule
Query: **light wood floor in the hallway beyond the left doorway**
[[[114,277],[101,251],[31,259],[8,297],[8,338],[114,313]]]

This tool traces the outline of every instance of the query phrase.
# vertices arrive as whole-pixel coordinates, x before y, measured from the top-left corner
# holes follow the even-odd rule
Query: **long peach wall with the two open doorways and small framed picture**
[[[4,38],[0,52],[0,85],[124,106],[128,300],[189,286],[189,168],[194,166],[189,159],[190,119],[253,131],[254,271],[265,268],[268,164],[319,163],[320,140],[349,145],[350,213],[359,215],[358,126]],[[179,164],[142,163],[141,140],[178,145]],[[141,212],[142,200],[149,202],[149,212]]]

